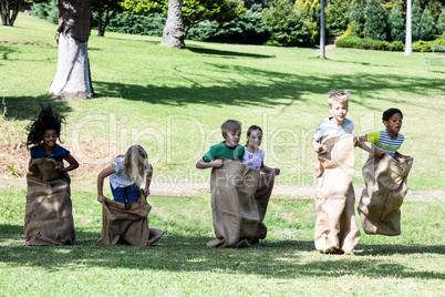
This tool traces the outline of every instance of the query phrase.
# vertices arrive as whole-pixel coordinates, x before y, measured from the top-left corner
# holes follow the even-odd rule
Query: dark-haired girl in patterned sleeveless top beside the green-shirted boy
[[[251,125],[247,130],[247,143],[245,146],[245,160],[244,164],[250,168],[262,171],[266,173],[275,172],[276,175],[280,175],[280,168],[271,168],[265,165],[265,151],[259,148],[262,141],[262,130],[257,125]]]

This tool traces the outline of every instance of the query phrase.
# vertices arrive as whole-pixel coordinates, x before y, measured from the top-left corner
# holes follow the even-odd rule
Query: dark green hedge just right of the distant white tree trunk
[[[200,41],[262,44],[270,34],[262,18],[262,6],[253,3],[250,9],[231,22],[204,21],[192,28],[188,37]]]

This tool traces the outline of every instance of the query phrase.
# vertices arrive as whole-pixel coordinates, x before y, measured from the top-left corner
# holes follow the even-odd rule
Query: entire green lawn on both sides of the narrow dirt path
[[[153,183],[207,182],[209,171],[195,163],[221,141],[227,119],[244,131],[263,129],[266,164],[281,168],[279,184],[311,186],[310,141],[330,115],[331,89],[352,94],[356,135],[382,129],[384,110],[401,109],[401,153],[415,158],[410,190],[443,191],[444,69],[426,72],[420,53],[341,49],[320,60],[314,49],[186,41],[174,50],[159,38],[93,31],[95,99],[62,101],[45,92],[56,71],[54,34],[55,25],[23,14],[0,27],[0,173],[25,173],[23,129],[39,103],[51,102],[66,117],[62,145],[81,163],[72,172],[77,243],[24,246],[25,186],[8,178],[0,186],[0,296],[445,295],[443,199],[406,199],[401,236],[362,233],[356,256],[346,257],[314,250],[312,201],[271,201],[258,248],[216,249],[205,246],[214,238],[209,199],[149,197],[149,225],[167,234],[149,248],[101,247],[94,194],[99,171],[133,143],[147,148]],[[365,158],[356,150],[356,185]]]

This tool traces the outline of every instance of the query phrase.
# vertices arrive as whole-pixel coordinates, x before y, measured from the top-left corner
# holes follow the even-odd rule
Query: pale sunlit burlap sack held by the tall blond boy
[[[321,253],[352,254],[360,239],[352,187],[354,145],[351,134],[329,139],[315,161],[315,248]]]

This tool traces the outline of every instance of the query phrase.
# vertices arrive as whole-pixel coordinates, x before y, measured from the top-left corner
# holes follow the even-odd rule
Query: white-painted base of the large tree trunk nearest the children
[[[92,95],[87,42],[72,39],[70,32],[59,37],[58,72],[49,91],[66,99]]]

